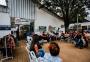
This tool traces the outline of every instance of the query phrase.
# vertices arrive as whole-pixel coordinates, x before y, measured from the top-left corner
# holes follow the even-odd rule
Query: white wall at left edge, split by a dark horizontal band
[[[8,13],[0,12],[0,25],[11,25]],[[11,33],[11,30],[0,30],[0,38]]]

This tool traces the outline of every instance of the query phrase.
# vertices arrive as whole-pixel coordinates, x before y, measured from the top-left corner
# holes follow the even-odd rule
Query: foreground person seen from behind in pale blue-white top
[[[50,53],[45,53],[44,62],[62,62],[59,57],[60,48],[57,43],[51,42],[49,45]]]

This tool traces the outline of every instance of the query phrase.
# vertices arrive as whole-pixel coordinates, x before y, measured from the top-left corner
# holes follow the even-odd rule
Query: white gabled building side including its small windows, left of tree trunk
[[[36,8],[36,20],[35,20],[35,32],[42,32],[42,31],[56,31],[60,28],[64,31],[64,22],[62,19],[56,17],[54,14],[48,12],[46,9],[38,9]]]

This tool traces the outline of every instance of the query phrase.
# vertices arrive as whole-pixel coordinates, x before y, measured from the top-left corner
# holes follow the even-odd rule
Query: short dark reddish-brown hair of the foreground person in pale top
[[[49,47],[49,51],[50,51],[50,54],[52,56],[57,56],[57,55],[59,55],[60,48],[59,48],[57,43],[51,42],[50,47]]]

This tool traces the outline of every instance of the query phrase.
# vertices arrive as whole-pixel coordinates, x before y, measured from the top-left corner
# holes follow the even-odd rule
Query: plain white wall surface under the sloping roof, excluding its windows
[[[61,27],[64,25],[62,19],[56,18],[55,16],[45,12],[42,9],[37,8],[36,13],[36,20],[35,20],[35,32],[38,32],[39,26],[46,26],[48,31],[48,26],[52,27]]]

